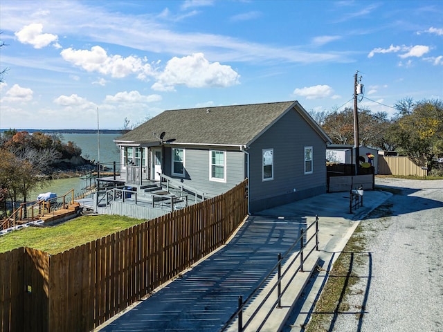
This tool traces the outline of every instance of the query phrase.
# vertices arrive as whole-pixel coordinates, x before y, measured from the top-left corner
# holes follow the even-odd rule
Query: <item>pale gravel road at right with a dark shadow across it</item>
[[[329,331],[443,331],[443,180],[376,185],[398,192],[361,221],[361,278]]]

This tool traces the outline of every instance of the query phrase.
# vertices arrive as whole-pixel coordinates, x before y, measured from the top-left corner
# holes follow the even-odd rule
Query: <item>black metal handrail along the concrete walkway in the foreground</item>
[[[311,235],[311,237],[309,237],[309,239],[307,239],[307,241],[304,243],[303,239],[305,237],[305,235],[307,234],[307,231],[313,227],[315,225],[315,232],[313,235]],[[303,255],[303,251],[305,250],[305,248],[307,247],[307,244],[309,242],[311,242],[313,239],[315,238],[316,240],[316,244],[313,248],[311,248],[311,250],[309,250],[309,252],[307,253],[306,257],[304,257]],[[291,263],[287,266],[286,270],[284,270],[284,273],[281,273],[281,266],[282,266],[282,261],[287,257],[287,255],[289,255],[289,252],[291,252],[291,250],[293,250],[293,248],[300,243],[300,251],[297,253],[297,255],[295,257],[293,257]],[[285,277],[289,271],[289,268],[291,268],[291,266],[294,264],[294,262],[300,258],[300,264],[299,266],[296,268],[295,273],[292,275],[290,281],[296,277],[297,273],[300,272],[304,272],[303,271],[303,263],[306,261],[306,259],[309,257],[309,255],[311,255],[312,252],[314,252],[314,250],[318,251],[318,216],[316,216],[316,220],[311,223],[311,225],[309,225],[309,227],[306,228],[305,231],[300,230],[300,237],[298,237],[298,239],[296,239],[296,241],[291,245],[291,247],[289,247],[289,249],[284,253],[283,257],[282,255],[279,253],[278,254],[278,261],[277,264],[275,264],[275,266],[273,266],[273,268],[271,268],[271,270],[269,271],[269,273],[266,275],[266,277],[264,277],[264,279],[262,279],[262,282],[260,282],[260,284],[255,287],[255,289],[253,290],[253,292],[243,301],[243,297],[239,296],[238,299],[238,309],[237,311],[235,311],[235,313],[233,313],[233,315],[230,316],[228,322],[226,322],[226,324],[224,324],[224,326],[221,328],[221,331],[226,331],[226,329],[228,329],[228,327],[230,326],[230,324],[232,324],[235,319],[238,317],[238,331],[243,331],[244,329],[246,329],[246,327],[251,324],[251,322],[253,321],[255,315],[257,315],[258,311],[260,311],[260,309],[262,308],[262,306],[264,306],[264,304],[266,303],[267,299],[269,299],[269,297],[271,296],[272,292],[275,290],[275,288],[278,288],[278,297],[277,300],[274,303],[274,306],[277,306],[278,308],[281,307],[280,304],[280,300],[282,298],[282,295],[284,294],[284,292],[287,290],[287,288],[289,287],[289,283],[287,284],[286,287],[284,287],[283,291],[281,291],[281,282],[283,277]],[[275,274],[275,270],[277,270],[278,273],[278,279],[275,282],[275,284],[271,287],[271,289],[269,290],[269,292],[266,294],[266,296],[264,297],[264,299],[262,299],[262,301],[260,302],[260,304],[257,306],[257,308],[255,309],[255,311],[251,314],[251,316],[249,317],[249,319],[246,321],[245,324],[243,324],[243,309],[245,308],[246,304],[248,304],[248,302],[251,301],[251,299],[253,299],[254,297],[257,296],[257,293],[259,293],[260,288],[262,288],[262,286],[269,282],[268,279],[271,278],[271,275]],[[271,309],[272,310],[272,309]],[[264,322],[266,322],[266,319],[262,321],[262,325],[264,324]],[[261,326],[262,326],[261,325]]]

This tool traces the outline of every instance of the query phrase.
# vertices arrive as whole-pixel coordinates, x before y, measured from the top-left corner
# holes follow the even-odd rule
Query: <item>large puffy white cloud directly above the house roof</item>
[[[170,59],[163,73],[156,76],[157,82],[152,89],[174,91],[175,85],[190,88],[226,87],[239,84],[239,77],[230,66],[210,63],[203,53],[195,53]]]

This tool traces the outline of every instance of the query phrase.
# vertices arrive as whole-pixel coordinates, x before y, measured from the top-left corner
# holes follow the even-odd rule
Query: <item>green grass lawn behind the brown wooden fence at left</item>
[[[51,227],[28,227],[1,236],[0,252],[30,247],[55,255],[144,221],[127,216],[80,216]]]

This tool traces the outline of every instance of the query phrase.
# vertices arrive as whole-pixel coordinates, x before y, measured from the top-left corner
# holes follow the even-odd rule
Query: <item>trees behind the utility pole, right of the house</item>
[[[429,175],[443,176],[443,102],[404,98],[394,105],[395,116],[359,109],[359,146],[397,151]],[[334,144],[354,145],[354,110],[310,112]]]

